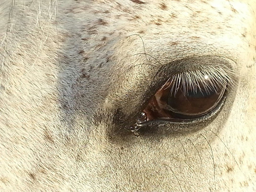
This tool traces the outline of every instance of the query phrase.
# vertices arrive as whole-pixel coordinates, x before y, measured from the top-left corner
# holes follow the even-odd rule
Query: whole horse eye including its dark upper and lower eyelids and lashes
[[[210,125],[223,109],[223,111],[228,110],[233,104],[233,95],[237,88],[233,63],[232,60],[223,57],[205,56],[175,61],[171,67],[162,66],[151,84],[155,92],[151,92],[151,97],[142,106],[141,112],[135,118],[135,124],[129,127],[130,130],[146,135],[148,133],[175,135],[198,131]],[[189,69],[186,67],[188,64],[191,65],[191,70],[186,71],[185,69]],[[163,82],[164,76],[169,78]],[[162,86],[159,86],[159,82],[162,82]],[[164,92],[165,88],[169,91],[162,94],[160,91]],[[152,98],[154,101],[151,101]],[[200,105],[203,108],[200,108],[195,100],[202,98]],[[193,101],[194,104],[191,106],[196,108],[188,109],[184,105],[186,99],[187,104]],[[228,106],[225,104],[227,99]],[[151,106],[148,106],[149,103]],[[162,110],[164,107],[161,104],[168,105],[165,111]],[[159,105],[162,107],[160,110]],[[155,106],[158,106],[158,113],[161,114],[156,113]],[[153,113],[150,110],[154,110]],[[229,115],[229,112],[226,111],[226,114]]]

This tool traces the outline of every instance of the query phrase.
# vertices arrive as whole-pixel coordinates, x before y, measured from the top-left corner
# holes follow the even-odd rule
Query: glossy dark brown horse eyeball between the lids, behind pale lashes
[[[201,118],[213,112],[225,98],[227,81],[207,74],[175,75],[155,93],[143,110],[141,120],[164,118],[178,122]]]

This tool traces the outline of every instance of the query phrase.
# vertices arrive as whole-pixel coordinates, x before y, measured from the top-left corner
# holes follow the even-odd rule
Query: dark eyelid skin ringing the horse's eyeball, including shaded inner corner
[[[239,69],[236,68],[235,61],[220,56],[199,56],[175,60],[161,65],[156,61],[153,64],[146,66],[146,68],[144,66],[142,68],[143,72],[140,73],[141,76],[137,74],[134,76],[137,78],[136,84],[124,84],[122,88],[124,91],[119,91],[118,94],[113,93],[114,97],[109,99],[113,103],[110,115],[113,116],[112,122],[114,125],[110,129],[110,135],[118,134],[118,137],[120,136],[122,139],[125,139],[130,134],[140,133],[140,135],[148,135],[152,131],[154,134],[166,134],[166,136],[176,135],[176,133],[179,134],[181,132],[188,134],[191,131],[198,131],[210,125],[222,111],[225,111],[225,117],[222,117],[222,119],[227,118],[226,115],[229,115],[229,109],[233,104],[239,79],[237,75],[239,74]],[[210,81],[205,84],[199,80],[205,78],[206,74],[209,76]],[[173,77],[176,77],[173,81],[178,82],[173,83],[175,85],[173,93],[176,91],[176,85],[180,88],[180,91],[186,92],[186,94],[190,94],[191,92],[194,94],[193,87],[196,88],[199,95],[194,94],[194,98],[200,98],[202,96],[200,96],[199,87],[201,89],[207,87],[208,91],[207,88],[201,91],[203,93],[208,92],[210,95],[216,91],[219,94],[221,94],[221,91],[225,91],[220,101],[214,102],[216,104],[212,106],[212,109],[214,108],[212,111],[203,110],[205,112],[203,112],[204,114],[201,112],[196,115],[193,114],[193,118],[191,116],[185,117],[184,115],[187,114],[173,113],[176,116],[174,118],[171,117],[172,119],[161,117],[147,121],[145,115],[142,115],[143,110],[147,107],[150,99],[154,97],[157,91],[163,85],[168,86],[165,83],[171,82]],[[197,78],[193,79],[193,77]],[[184,83],[186,86],[182,86]],[[184,87],[187,88],[185,91]],[[170,91],[171,89],[172,86],[170,86]],[[170,102],[168,101],[170,91],[166,92],[167,99],[165,102]],[[175,109],[174,105],[171,106]]]

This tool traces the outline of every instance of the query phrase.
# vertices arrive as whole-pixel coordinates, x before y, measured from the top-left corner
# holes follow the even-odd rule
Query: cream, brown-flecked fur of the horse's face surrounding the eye
[[[254,0],[0,0],[0,21],[0,191],[256,191]],[[214,120],[126,131],[156,69],[202,56],[236,73]]]

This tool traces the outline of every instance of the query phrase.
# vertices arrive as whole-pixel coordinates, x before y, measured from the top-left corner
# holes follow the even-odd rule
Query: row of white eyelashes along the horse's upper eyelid
[[[188,90],[192,90],[194,94],[197,91],[206,92],[207,94],[215,91],[218,94],[217,87],[227,87],[228,89],[228,87],[234,86],[232,80],[234,75],[234,71],[227,68],[204,66],[202,70],[186,71],[173,75],[162,88],[167,89],[171,86],[170,94],[174,92],[175,95],[179,89],[183,89],[184,94],[187,94]]]

